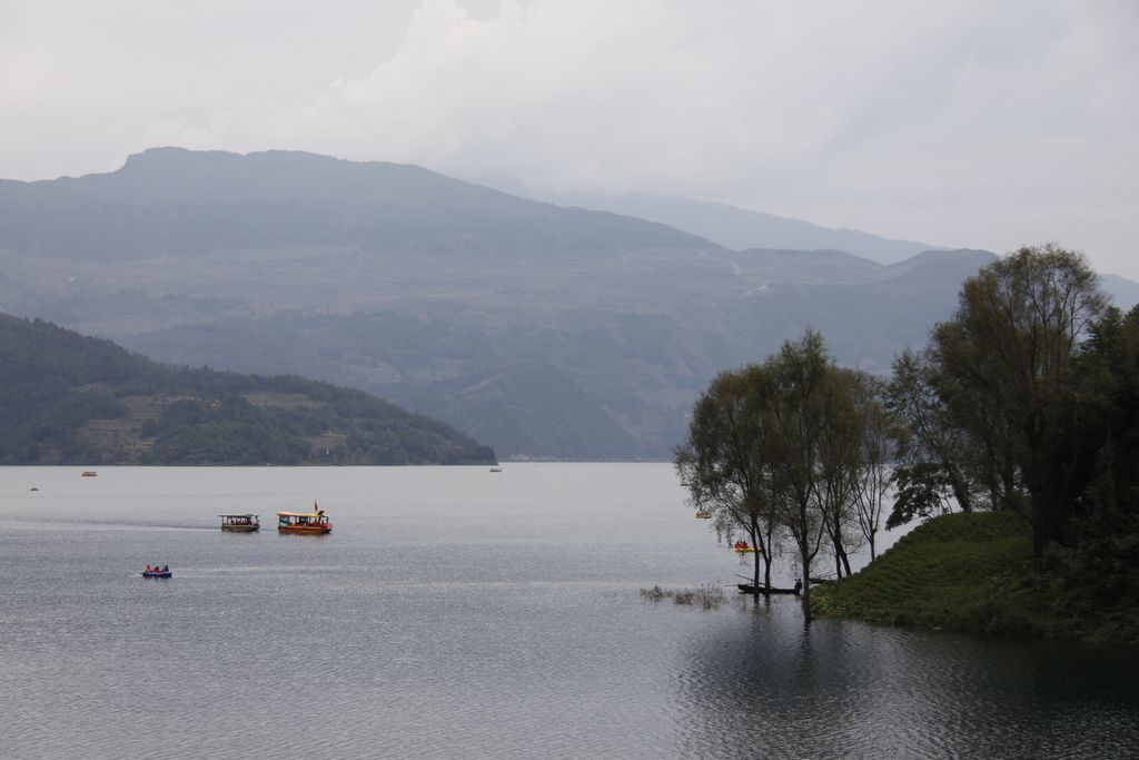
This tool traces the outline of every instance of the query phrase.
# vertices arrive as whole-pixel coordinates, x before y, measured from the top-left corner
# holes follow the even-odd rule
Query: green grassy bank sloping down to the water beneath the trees
[[[1032,564],[1032,542],[1017,516],[944,515],[854,577],[812,589],[812,608],[893,626],[1139,644],[1133,585],[1105,593],[1070,551],[1050,553],[1040,572]]]

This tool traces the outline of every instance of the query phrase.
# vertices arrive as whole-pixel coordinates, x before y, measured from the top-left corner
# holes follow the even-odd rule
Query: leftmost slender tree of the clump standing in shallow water
[[[689,500],[713,515],[721,539],[743,531],[754,553],[753,582],[771,585],[776,523],[770,497],[765,426],[770,373],[749,366],[721,373],[697,400],[688,441],[677,448],[674,465]]]

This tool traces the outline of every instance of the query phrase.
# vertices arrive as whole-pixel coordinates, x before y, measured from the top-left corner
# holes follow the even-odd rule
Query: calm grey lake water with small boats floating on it
[[[0,468],[5,758],[1139,752],[1139,653],[804,626],[667,465],[80,472]]]

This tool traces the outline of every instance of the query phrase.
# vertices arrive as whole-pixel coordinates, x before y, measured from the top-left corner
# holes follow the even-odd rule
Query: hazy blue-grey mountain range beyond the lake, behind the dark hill
[[[151,149],[0,181],[0,310],[162,361],[363,389],[503,459],[666,459],[718,371],[808,327],[888,371],[994,259],[874,236],[867,255],[775,232],[734,250],[694,227],[417,166]]]

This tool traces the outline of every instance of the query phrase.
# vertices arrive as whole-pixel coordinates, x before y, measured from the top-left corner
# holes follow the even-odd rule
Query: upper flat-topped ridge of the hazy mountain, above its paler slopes
[[[604,255],[710,245],[662,224],[557,209],[420,166],[182,148],[146,150],[106,174],[0,182],[0,244],[88,260],[305,245],[517,260],[556,258],[567,246]]]

